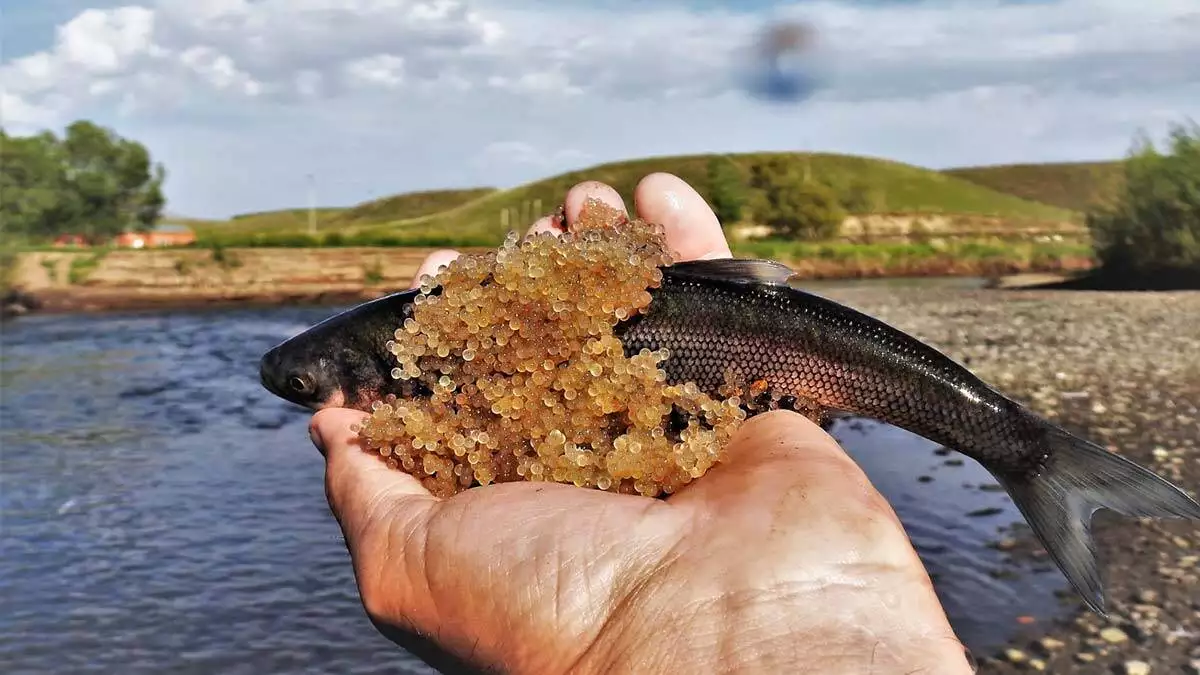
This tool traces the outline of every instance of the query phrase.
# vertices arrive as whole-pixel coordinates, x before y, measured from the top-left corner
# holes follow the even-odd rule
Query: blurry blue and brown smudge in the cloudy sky
[[[822,85],[818,74],[816,28],[798,20],[774,22],[758,34],[743,76],[750,95],[796,103]]]

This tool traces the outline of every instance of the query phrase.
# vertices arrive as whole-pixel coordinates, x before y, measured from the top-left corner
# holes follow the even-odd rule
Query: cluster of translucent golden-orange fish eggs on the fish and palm
[[[703,476],[738,398],[668,384],[665,350],[626,356],[613,334],[671,262],[661,227],[594,201],[562,237],[458,257],[388,345],[392,377],[428,395],[377,401],[364,444],[438,496],[514,480],[660,496]]]

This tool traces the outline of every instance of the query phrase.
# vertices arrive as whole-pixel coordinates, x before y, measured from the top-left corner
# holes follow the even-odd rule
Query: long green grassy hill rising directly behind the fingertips
[[[989,190],[961,178],[887,160],[791,153],[728,155],[731,161],[742,167],[749,167],[768,157],[786,157],[797,163],[806,163],[812,177],[834,185],[865,183],[881,193],[882,210],[893,213],[978,214],[1055,222],[1076,217],[1076,214],[1066,209],[1038,204]],[[523,204],[540,201],[541,211],[548,213],[563,198],[566,190],[581,180],[595,179],[607,183],[622,193],[628,204],[632,204],[632,192],[637,181],[648,173],[665,171],[679,175],[707,198],[709,193],[707,168],[710,159],[712,155],[685,155],[600,165],[494,192],[448,211],[408,221],[379,223],[365,229],[377,234],[386,232],[425,244],[457,240],[494,243],[506,231],[502,223],[504,209],[520,213]]]

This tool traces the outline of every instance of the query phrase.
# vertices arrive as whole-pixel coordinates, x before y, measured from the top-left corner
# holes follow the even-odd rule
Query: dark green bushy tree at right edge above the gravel
[[[1139,138],[1117,199],[1087,214],[1106,273],[1200,274],[1200,127],[1172,126],[1166,145]]]

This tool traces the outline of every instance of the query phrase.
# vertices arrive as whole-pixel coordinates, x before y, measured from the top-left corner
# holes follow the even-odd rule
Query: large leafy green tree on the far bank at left
[[[5,235],[67,232],[108,238],[158,220],[166,171],[140,143],[80,120],[64,138],[0,130],[0,216]]]

